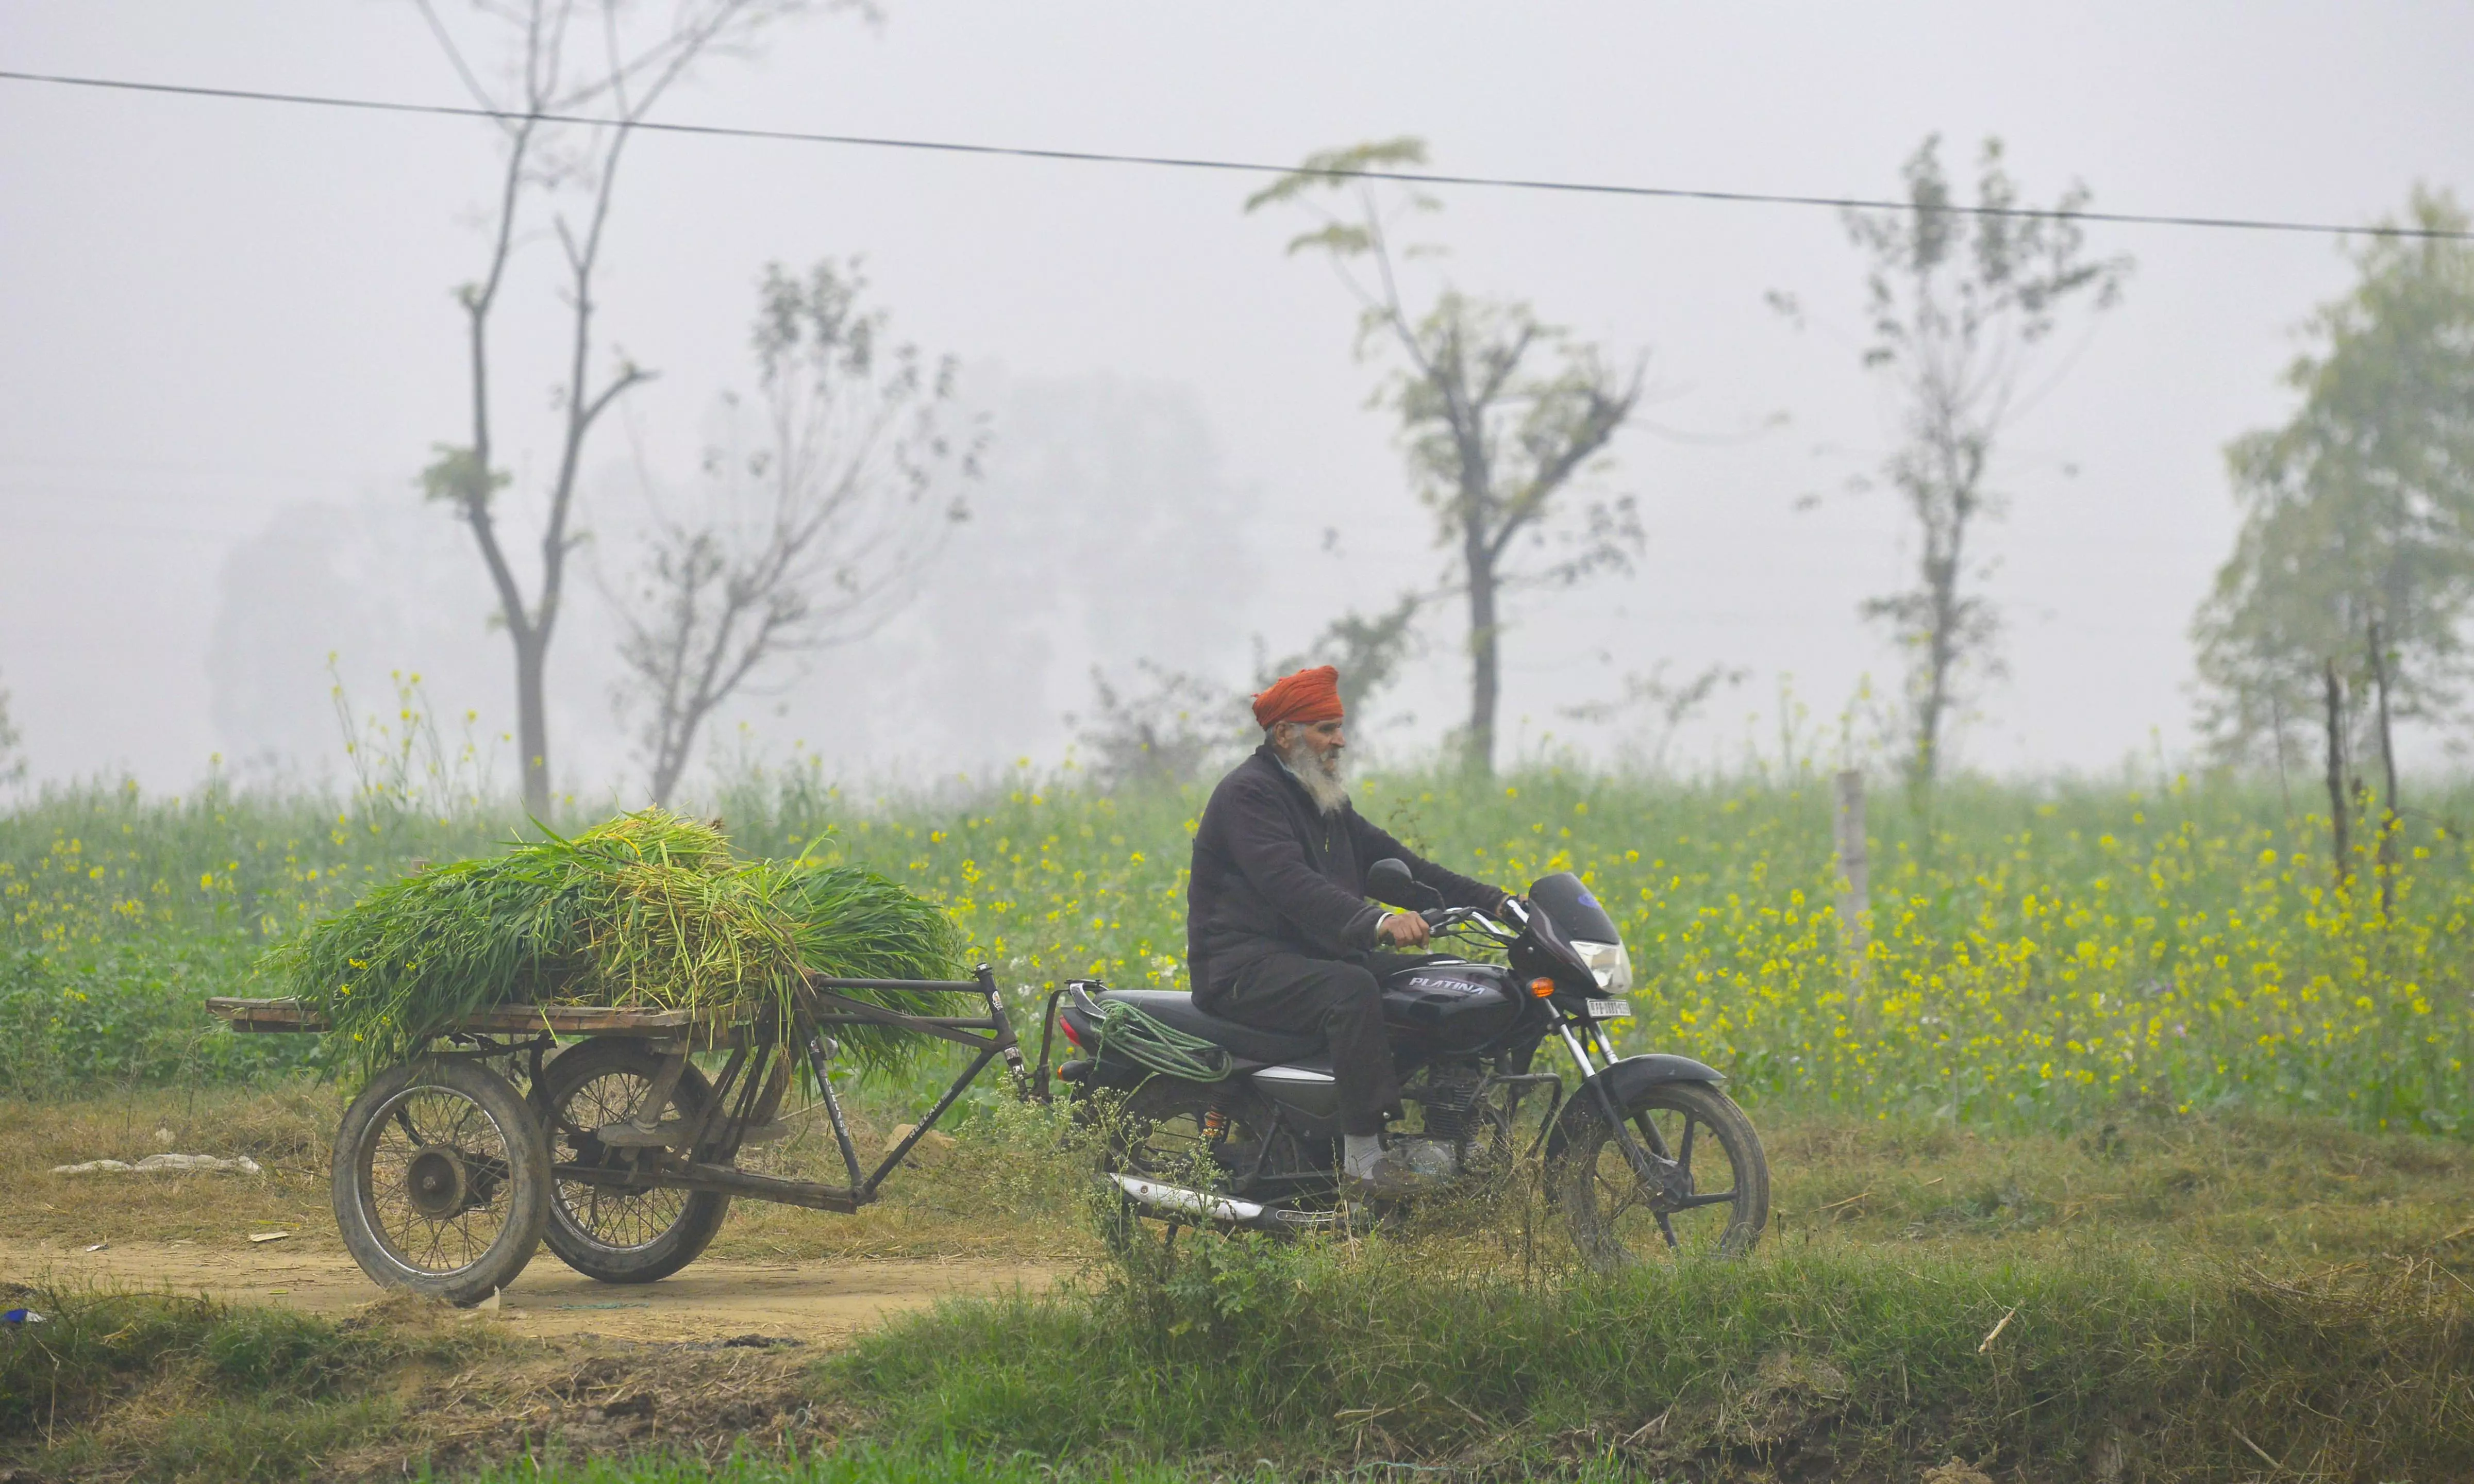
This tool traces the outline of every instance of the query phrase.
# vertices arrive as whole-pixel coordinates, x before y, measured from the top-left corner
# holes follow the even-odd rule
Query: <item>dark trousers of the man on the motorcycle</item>
[[[1341,1133],[1383,1133],[1383,1118],[1400,1106],[1400,1078],[1393,1073],[1390,1041],[1383,1036],[1376,979],[1435,957],[1368,952],[1356,960],[1324,960],[1274,952],[1195,994],[1195,1007],[1267,1031],[1324,1036],[1341,1093]]]

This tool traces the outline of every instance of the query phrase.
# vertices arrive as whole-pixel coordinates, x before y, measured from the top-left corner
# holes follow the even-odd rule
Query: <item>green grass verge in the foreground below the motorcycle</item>
[[[1808,1247],[1514,1281],[1192,1244],[1165,1281],[955,1301],[824,1370],[896,1444],[1039,1457],[1586,1462],[1685,1477],[2457,1479],[2474,1328],[2422,1264],[2286,1284],[2105,1252]]]

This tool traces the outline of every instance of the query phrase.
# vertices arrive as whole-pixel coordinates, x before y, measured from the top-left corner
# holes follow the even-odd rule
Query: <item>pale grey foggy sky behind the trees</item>
[[[2474,10],[2459,5],[1687,7],[995,5],[821,17],[720,59],[663,119],[1294,161],[1423,134],[1435,168],[1791,193],[1895,190],[1927,131],[2009,141],[2034,200],[2368,223],[2415,181],[2474,188]],[[0,64],[463,101],[408,5],[12,0]],[[656,366],[606,428],[586,519],[616,561],[633,450],[685,480],[713,398],[750,381],[755,275],[863,255],[896,331],[970,369],[997,418],[982,517],[918,608],[727,727],[836,769],[928,777],[1061,754],[1094,663],[1249,678],[1440,554],[1351,354],[1331,272],[1284,257],[1239,176],[643,136],[604,284],[606,346]],[[327,653],[364,710],[388,670],[510,725],[505,638],[468,539],[423,507],[460,440],[453,284],[480,265],[482,124],[0,84],[0,685],[37,779],[208,754],[317,777]],[[1561,707],[1625,673],[1739,665],[1687,754],[1774,747],[1781,683],[1816,725],[1873,678],[1856,603],[1903,581],[1900,519],[1851,495],[1888,443],[1856,364],[1860,262],[1826,210],[1445,190],[1440,267],[1616,354],[1655,428],[1638,571],[1526,596],[1504,737],[1611,749]],[[2192,606],[2232,542],[2222,445],[2286,413],[2293,326],[2350,279],[2326,237],[2091,228],[2125,302],[2001,453],[1987,532],[2009,680],[1969,764],[2100,769],[2189,744]],[[557,329],[552,252],[500,339]],[[1427,282],[1440,282],[1430,277]],[[1764,309],[1796,292],[1816,324]],[[547,354],[502,373],[507,463],[549,463]],[[1784,420],[1781,420],[1784,413]],[[1808,497],[1818,495],[1813,505]],[[633,502],[633,505],[631,505]],[[1811,505],[1811,510],[1801,510]],[[1326,549],[1324,532],[1338,532]],[[589,584],[554,650],[562,782],[623,777]],[[1450,616],[1395,697],[1403,744],[1457,720]],[[1509,747],[1507,747],[1509,752]],[[500,767],[512,782],[512,764]]]

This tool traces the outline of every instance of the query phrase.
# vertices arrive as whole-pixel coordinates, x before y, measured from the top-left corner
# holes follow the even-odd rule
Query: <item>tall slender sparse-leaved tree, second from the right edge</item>
[[[2001,616],[1974,591],[1987,566],[1972,554],[1977,524],[2001,512],[1994,448],[2026,411],[2026,376],[2073,299],[2108,309],[2128,257],[2088,257],[2068,215],[2088,205],[2071,186],[2034,215],[2001,163],[2001,141],[1977,158],[1977,210],[1962,210],[1942,171],[1940,136],[1907,156],[1907,205],[1848,210],[1848,237],[1868,260],[1865,369],[1900,401],[1900,445],[1883,475],[1915,522],[1915,586],[1863,603],[1907,650],[1907,777],[1930,784],[1945,762],[1952,707],[1969,680],[1999,675]],[[1801,309],[1771,294],[1789,317]]]

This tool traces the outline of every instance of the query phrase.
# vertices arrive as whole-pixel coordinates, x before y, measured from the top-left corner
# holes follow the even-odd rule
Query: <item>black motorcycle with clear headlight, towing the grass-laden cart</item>
[[[1430,950],[1497,950],[1504,962],[1440,957],[1380,979],[1405,1113],[1388,1148],[1437,1190],[1544,1165],[1544,1192],[1598,1269],[1648,1254],[1742,1254],[1769,1222],[1769,1162],[1719,1071],[1690,1056],[1616,1056],[1608,1021],[1630,1014],[1630,955],[1613,918],[1569,871],[1512,898],[1502,920],[1445,908],[1405,863],[1376,861],[1368,895],[1420,910]],[[1432,903],[1415,908],[1413,903]],[[1106,1120],[1103,1180],[1116,1239],[1143,1222],[1346,1229],[1368,1217],[1338,1177],[1338,1083],[1319,1034],[1220,1019],[1190,994],[1069,982],[1059,1024],[1076,1056],[1056,1068]],[[1133,1007],[1178,1034],[1160,1054],[1111,1031]],[[1141,1024],[1141,1021],[1136,1021]],[[1534,1071],[1556,1041],[1578,1083]],[[1536,1130],[1522,1143],[1522,1111]],[[1383,1212],[1376,1209],[1376,1217]]]

